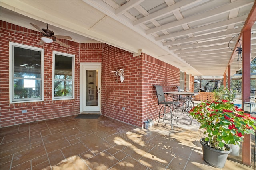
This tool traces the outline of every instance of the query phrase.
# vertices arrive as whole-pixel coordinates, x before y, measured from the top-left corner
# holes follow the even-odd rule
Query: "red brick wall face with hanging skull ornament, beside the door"
[[[142,58],[104,44],[102,57],[102,114],[141,126],[142,110]],[[124,82],[113,72],[124,69]],[[116,81],[117,79],[117,81]],[[122,109],[125,108],[125,110]]]

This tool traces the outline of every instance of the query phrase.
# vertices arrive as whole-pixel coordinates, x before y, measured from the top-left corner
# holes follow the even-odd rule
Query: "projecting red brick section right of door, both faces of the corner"
[[[124,69],[125,79],[111,71]],[[147,119],[158,115],[156,92],[153,85],[164,90],[176,90],[180,81],[179,69],[154,57],[132,53],[104,44],[102,57],[102,114],[120,121],[143,127]],[[125,108],[125,110],[122,109]]]

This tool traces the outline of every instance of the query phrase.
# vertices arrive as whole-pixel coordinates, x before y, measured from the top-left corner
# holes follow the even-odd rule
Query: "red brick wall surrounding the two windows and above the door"
[[[57,43],[38,45],[40,33],[18,25],[0,21],[0,107],[1,127],[20,123],[64,117],[79,113],[79,63],[101,62],[102,43],[79,44],[61,40],[70,45],[65,48]],[[24,31],[27,33],[14,32]],[[32,33],[32,34],[30,34]],[[9,41],[44,48],[44,101],[9,104]],[[52,101],[52,51],[75,55],[75,99]],[[82,53],[82,55],[80,55]],[[26,109],[27,113],[21,113]]]

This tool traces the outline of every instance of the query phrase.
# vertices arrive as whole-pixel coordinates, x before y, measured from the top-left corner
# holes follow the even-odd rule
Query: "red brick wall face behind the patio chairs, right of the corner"
[[[158,84],[164,91],[177,91],[175,85],[180,84],[180,70],[159,59],[142,54],[142,125],[143,121],[156,119],[160,107],[156,90],[153,85]]]

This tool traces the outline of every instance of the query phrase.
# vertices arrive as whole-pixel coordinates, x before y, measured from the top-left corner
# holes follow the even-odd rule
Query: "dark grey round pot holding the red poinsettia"
[[[204,161],[215,168],[223,168],[232,149],[228,145],[225,145],[230,149],[228,151],[212,149],[204,144],[204,138],[200,139],[200,143],[202,145]]]

